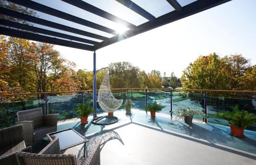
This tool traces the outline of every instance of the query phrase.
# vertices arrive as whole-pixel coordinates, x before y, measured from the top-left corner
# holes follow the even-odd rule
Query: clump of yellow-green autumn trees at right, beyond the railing
[[[235,54],[220,58],[216,53],[200,56],[183,70],[182,87],[208,90],[256,90],[255,66]],[[254,84],[254,85],[253,85]]]

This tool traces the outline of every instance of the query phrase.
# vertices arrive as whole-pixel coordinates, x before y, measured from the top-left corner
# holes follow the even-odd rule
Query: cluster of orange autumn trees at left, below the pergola
[[[0,39],[2,92],[13,93],[17,91],[14,89],[48,92],[78,88],[74,78],[75,64],[61,58],[53,45],[5,36]]]

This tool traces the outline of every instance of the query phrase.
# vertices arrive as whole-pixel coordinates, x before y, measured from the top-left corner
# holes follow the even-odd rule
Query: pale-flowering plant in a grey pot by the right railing
[[[193,116],[199,115],[203,116],[204,109],[197,109],[193,107],[179,107],[178,111],[176,112],[176,118],[179,120],[181,118],[184,119],[184,122],[187,124],[192,124]]]

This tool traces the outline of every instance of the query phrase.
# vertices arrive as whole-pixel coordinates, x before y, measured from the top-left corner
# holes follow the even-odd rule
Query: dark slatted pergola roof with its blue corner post
[[[3,1],[0,34],[94,51],[96,74],[97,49],[230,0]],[[11,8],[11,3],[32,14]],[[96,76],[93,92],[96,108]]]

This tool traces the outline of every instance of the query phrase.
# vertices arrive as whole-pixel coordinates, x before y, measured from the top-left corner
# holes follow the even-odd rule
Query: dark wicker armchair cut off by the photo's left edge
[[[32,148],[26,147],[23,140],[22,125],[0,130],[0,164],[18,164],[16,160],[16,152],[32,152]]]

